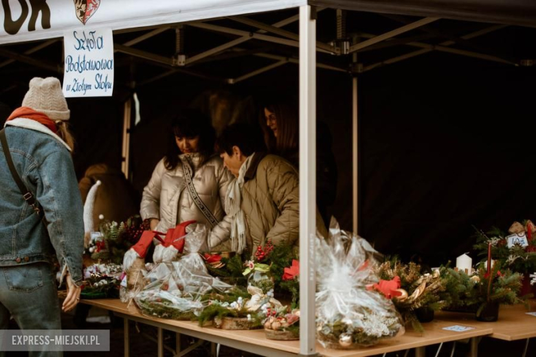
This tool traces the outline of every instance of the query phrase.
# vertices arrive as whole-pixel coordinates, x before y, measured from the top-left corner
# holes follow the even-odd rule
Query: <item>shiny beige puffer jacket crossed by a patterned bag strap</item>
[[[181,157],[184,157],[184,154]],[[189,154],[189,157],[194,172],[192,181],[197,194],[216,220],[221,221],[225,216],[223,205],[232,174],[225,170],[223,161],[217,156],[210,157],[206,161],[201,154]],[[197,208],[188,191],[181,161],[175,170],[167,170],[164,159],[157,163],[153,176],[144,188],[139,213],[144,220],[159,219],[156,230],[164,233],[187,220],[197,220],[198,223],[206,224],[208,229],[211,228],[210,222]],[[228,239],[230,232],[229,227],[223,227],[225,224],[229,225],[220,222],[211,232],[222,241]]]

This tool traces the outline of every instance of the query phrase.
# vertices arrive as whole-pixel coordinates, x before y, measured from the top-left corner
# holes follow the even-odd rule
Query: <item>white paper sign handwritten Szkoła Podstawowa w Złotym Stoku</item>
[[[65,32],[65,97],[111,97],[113,35],[110,28],[81,28]]]

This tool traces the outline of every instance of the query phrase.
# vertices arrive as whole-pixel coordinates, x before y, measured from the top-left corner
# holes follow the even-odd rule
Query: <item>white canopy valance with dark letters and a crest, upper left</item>
[[[0,45],[63,36],[80,26],[133,27],[181,23],[295,8],[307,0],[2,0]]]

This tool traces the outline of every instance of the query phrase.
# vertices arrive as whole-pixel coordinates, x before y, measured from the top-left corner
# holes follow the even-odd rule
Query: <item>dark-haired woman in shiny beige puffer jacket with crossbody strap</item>
[[[150,219],[150,228],[161,232],[196,220],[212,229],[212,234],[228,234],[220,221],[232,176],[214,154],[215,133],[208,118],[183,111],[172,119],[170,139],[166,156],[144,188],[142,218]]]

